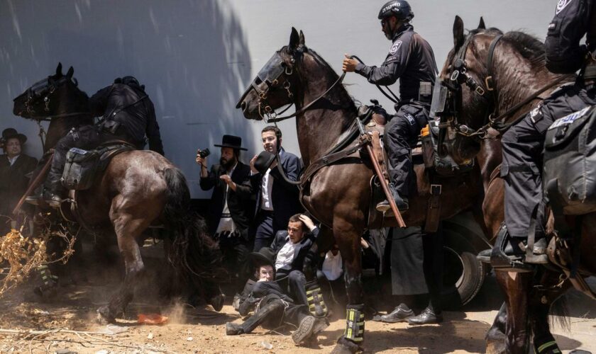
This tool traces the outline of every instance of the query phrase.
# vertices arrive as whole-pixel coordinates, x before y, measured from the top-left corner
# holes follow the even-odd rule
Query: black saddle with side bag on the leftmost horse
[[[69,190],[89,189],[114,156],[134,149],[135,147],[123,140],[104,142],[93,150],[73,147],[66,154],[66,164],[60,181]]]

